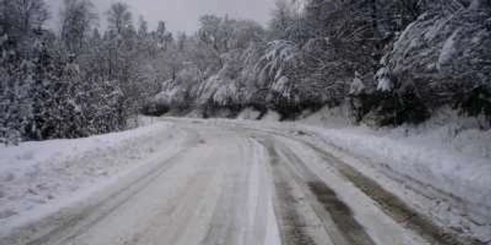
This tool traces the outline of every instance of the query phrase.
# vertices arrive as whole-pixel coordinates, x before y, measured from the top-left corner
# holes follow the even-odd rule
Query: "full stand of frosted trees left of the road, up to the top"
[[[110,8],[103,34],[93,28],[97,14],[89,0],[65,0],[60,12],[56,36],[43,29],[49,18],[45,1],[0,1],[3,143],[122,130],[144,99],[158,92],[158,81],[142,69],[152,52],[140,54],[124,3]],[[143,38],[147,44],[141,46],[151,48],[151,38]]]

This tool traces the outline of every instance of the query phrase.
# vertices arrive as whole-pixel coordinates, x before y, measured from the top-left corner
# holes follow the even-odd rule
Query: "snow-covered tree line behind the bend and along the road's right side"
[[[198,108],[204,117],[230,118],[254,107],[288,120],[347,104],[354,122],[375,126],[421,123],[450,105],[489,123],[490,6],[278,0],[269,26],[255,28],[244,45],[232,45],[243,40],[235,20],[204,17],[194,41],[208,52],[206,66],[191,55],[150,105],[157,115]]]

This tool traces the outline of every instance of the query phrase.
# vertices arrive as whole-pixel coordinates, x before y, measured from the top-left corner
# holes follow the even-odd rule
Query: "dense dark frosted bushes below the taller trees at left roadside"
[[[86,137],[126,127],[124,94],[116,80],[87,79],[49,36],[18,43],[0,42],[0,141]]]

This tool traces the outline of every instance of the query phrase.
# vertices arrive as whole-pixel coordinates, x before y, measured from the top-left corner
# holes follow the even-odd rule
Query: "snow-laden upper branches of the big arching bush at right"
[[[414,84],[432,107],[453,104],[457,92],[490,85],[489,8],[461,6],[420,16],[403,31],[389,55],[398,83]]]

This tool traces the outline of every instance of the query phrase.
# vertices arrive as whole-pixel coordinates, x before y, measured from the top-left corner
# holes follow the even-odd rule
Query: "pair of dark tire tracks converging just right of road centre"
[[[271,166],[274,169],[276,193],[278,195],[279,213],[283,223],[283,239],[286,244],[360,244],[375,245],[356,221],[351,209],[344,204],[335,192],[330,189],[314,173],[310,172],[305,163],[297,158],[288,148],[278,146],[269,140],[263,142],[268,149]],[[281,153],[281,154],[280,154]],[[293,195],[292,185],[300,188],[304,197],[298,200]],[[323,232],[330,241],[319,239],[319,232],[306,232],[314,228],[316,223],[308,223],[305,214],[299,214],[295,203],[304,202],[309,205]],[[307,222],[307,223],[305,223]],[[285,223],[287,225],[285,225]]]

